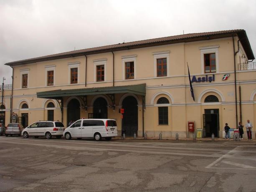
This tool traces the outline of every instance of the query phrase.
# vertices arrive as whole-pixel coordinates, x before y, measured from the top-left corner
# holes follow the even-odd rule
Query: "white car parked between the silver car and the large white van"
[[[52,136],[56,136],[57,139],[61,139],[63,130],[65,129],[63,123],[59,121],[37,121],[30,126],[27,126],[22,132],[24,138],[34,136],[45,136],[46,139],[51,139]]]

